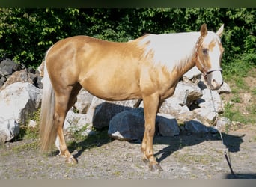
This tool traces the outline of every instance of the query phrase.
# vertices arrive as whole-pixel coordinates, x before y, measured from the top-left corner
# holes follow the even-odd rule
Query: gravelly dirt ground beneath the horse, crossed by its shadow
[[[256,128],[246,126],[223,134],[237,178],[256,178]],[[68,165],[57,156],[39,153],[38,140],[10,142],[0,147],[0,179],[220,179],[234,178],[223,154],[219,134],[154,139],[162,172],[149,171],[141,161],[141,144],[111,141],[106,132],[71,144],[79,160]],[[54,153],[55,154],[55,153]]]

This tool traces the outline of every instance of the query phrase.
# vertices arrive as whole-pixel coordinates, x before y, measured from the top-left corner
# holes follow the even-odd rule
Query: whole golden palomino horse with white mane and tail
[[[83,87],[106,100],[143,99],[144,138],[141,150],[150,169],[162,168],[153,154],[156,113],[174,93],[177,82],[196,66],[211,89],[222,85],[223,25],[216,33],[147,34],[127,43],[76,36],[58,41],[46,52],[40,115],[41,150],[58,142],[60,155],[77,162],[67,149],[63,125]]]

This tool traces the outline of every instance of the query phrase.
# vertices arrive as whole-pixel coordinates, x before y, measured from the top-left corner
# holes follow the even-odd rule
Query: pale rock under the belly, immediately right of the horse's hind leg
[[[79,111],[80,114],[86,114],[94,96],[92,96],[91,93],[85,91],[85,89],[82,88],[76,98],[77,101],[74,105],[75,108]]]

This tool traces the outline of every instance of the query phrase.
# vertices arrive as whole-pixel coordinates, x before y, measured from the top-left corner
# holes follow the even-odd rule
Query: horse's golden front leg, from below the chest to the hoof
[[[144,153],[143,160],[149,161],[151,171],[162,171],[161,166],[153,156],[153,136],[155,134],[156,113],[159,107],[158,94],[144,96],[144,119],[145,131],[141,144],[141,150]]]

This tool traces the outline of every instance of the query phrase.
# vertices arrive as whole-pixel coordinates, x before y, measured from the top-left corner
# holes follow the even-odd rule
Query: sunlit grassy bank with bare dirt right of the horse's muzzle
[[[256,78],[256,66],[242,57],[230,64],[223,64],[223,78],[231,87],[231,98],[224,106],[222,117],[243,124],[256,124],[256,88],[246,84],[246,77]],[[243,103],[243,94],[252,94],[251,101]],[[230,102],[231,101],[231,102]],[[245,112],[242,112],[245,111]]]

